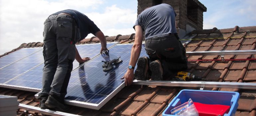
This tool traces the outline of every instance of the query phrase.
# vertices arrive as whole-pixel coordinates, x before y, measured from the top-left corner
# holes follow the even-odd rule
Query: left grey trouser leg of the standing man
[[[44,23],[44,46],[43,46],[43,56],[44,56],[44,68],[43,68],[43,79],[42,92],[39,94],[39,98],[48,98],[49,92],[51,90],[51,84],[56,72],[58,64],[58,50],[56,43],[56,35],[53,30],[53,18],[47,19]]]

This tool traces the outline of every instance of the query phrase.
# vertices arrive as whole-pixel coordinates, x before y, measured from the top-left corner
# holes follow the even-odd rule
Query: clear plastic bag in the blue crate
[[[192,99],[179,105],[171,110],[172,115],[178,116],[198,116],[198,111],[196,110]]]

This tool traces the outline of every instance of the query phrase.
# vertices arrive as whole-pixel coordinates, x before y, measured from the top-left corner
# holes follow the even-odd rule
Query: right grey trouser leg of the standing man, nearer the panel
[[[57,17],[56,43],[58,49],[58,66],[51,85],[50,95],[60,101],[64,100],[75,58],[75,45],[72,44],[72,19]]]

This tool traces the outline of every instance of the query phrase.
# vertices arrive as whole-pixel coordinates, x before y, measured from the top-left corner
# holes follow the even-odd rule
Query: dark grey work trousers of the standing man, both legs
[[[52,15],[44,22],[43,89],[39,98],[52,95],[63,101],[75,59],[78,29],[68,15]]]

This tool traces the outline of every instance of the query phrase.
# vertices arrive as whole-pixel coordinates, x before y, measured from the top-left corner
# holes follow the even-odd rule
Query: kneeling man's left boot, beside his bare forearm
[[[137,62],[137,68],[134,73],[134,77],[136,80],[146,80],[146,76],[148,73],[148,61],[149,58],[144,56],[140,57]]]

